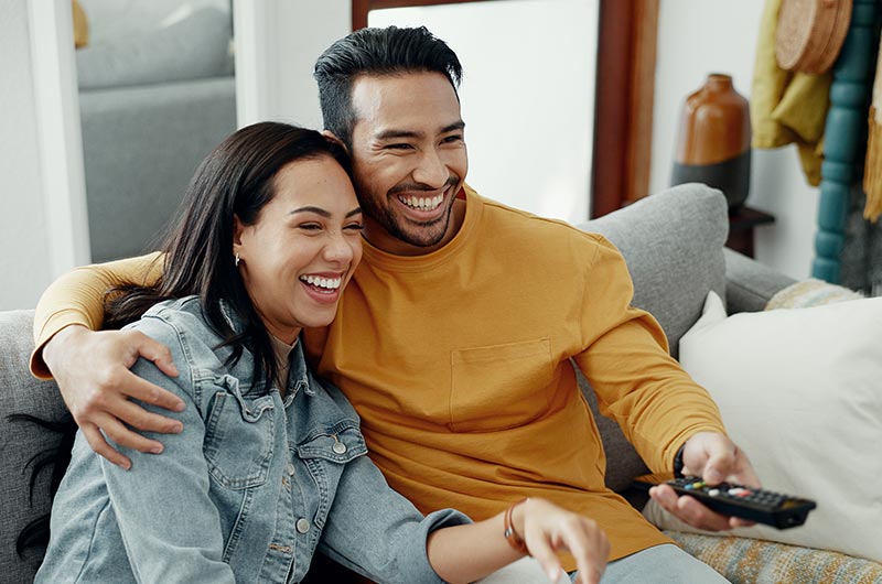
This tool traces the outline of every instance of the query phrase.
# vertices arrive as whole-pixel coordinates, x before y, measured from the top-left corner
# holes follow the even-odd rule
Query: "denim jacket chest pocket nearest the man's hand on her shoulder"
[[[203,451],[222,486],[246,489],[266,483],[273,443],[272,396],[243,394],[238,379],[224,376],[208,407]]]

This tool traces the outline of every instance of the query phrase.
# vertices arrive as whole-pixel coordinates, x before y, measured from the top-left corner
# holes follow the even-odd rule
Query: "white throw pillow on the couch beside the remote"
[[[818,504],[802,527],[733,534],[882,562],[882,298],[727,317],[711,292],[680,363],[763,486]],[[654,502],[644,515],[697,531]]]

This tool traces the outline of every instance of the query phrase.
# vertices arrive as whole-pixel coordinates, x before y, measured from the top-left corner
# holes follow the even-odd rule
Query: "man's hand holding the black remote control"
[[[687,440],[682,463],[684,475],[700,476],[711,485],[728,482],[761,486],[744,452],[719,432],[699,432]],[[649,495],[668,512],[698,529],[723,531],[753,524],[752,521],[713,512],[692,497],[678,497],[668,485],[650,488]]]

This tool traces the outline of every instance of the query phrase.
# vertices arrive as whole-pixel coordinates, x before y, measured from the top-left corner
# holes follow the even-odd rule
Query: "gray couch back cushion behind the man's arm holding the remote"
[[[579,226],[602,234],[622,252],[634,280],[634,305],[658,320],[675,357],[708,291],[725,298],[727,209],[719,191],[685,184]],[[603,439],[606,485],[622,490],[647,472],[646,465],[619,425],[600,414],[594,391],[582,376],[580,385]]]

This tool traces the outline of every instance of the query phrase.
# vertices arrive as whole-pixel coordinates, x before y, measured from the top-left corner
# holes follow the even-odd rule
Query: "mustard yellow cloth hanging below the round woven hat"
[[[824,160],[824,123],[830,107],[832,73],[811,75],[778,67],[775,33],[781,4],[782,0],[767,0],[760,21],[750,100],[753,148],[796,143],[806,180],[817,186]]]

